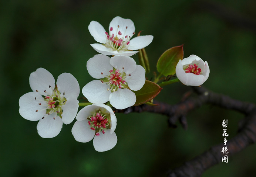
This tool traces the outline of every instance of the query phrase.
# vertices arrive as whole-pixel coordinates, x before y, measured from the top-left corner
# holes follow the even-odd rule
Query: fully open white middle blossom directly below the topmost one
[[[145,83],[145,69],[128,56],[95,55],[87,61],[87,70],[100,80],[86,84],[82,89],[84,96],[96,104],[110,101],[117,109],[134,105],[136,96],[132,90],[140,90]]]

